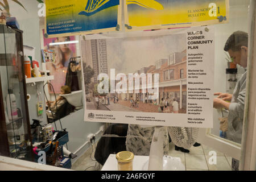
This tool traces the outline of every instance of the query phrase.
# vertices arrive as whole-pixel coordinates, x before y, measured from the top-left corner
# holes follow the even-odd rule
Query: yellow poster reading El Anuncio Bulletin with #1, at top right
[[[228,23],[229,0],[125,0],[126,31]]]

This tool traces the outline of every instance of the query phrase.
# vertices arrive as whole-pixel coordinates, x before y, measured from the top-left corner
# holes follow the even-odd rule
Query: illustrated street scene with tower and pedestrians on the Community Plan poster
[[[125,49],[125,51],[124,51]],[[187,49],[185,34],[155,36],[154,38],[115,38],[82,41],[82,61],[86,90],[86,109],[140,111],[149,113],[186,113],[187,108]],[[110,73],[122,73],[127,84],[110,90]],[[98,75],[109,76],[109,92],[99,93]],[[130,88],[129,75],[138,74],[139,88]],[[158,94],[142,88],[142,75],[151,75],[154,86],[158,75]],[[123,78],[114,80],[123,83]],[[126,80],[125,80],[126,82]],[[135,84],[133,78],[133,85]],[[111,92],[112,91],[112,92]],[[119,92],[118,92],[119,91]],[[157,97],[152,97],[157,95]]]

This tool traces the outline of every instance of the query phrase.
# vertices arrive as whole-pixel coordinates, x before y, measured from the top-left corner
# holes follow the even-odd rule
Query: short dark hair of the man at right
[[[226,41],[224,51],[241,51],[241,46],[248,47],[248,34],[243,31],[236,31]]]

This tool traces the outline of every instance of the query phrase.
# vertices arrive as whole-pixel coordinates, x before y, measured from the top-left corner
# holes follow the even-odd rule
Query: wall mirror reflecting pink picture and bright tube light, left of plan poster
[[[43,35],[44,35],[44,30]],[[44,85],[48,89],[47,120],[56,121],[82,109],[81,59],[77,57],[75,36],[43,38],[43,61],[54,80]]]

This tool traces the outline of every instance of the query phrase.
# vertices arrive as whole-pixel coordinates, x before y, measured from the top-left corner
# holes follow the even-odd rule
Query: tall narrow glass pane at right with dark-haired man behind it
[[[247,3],[247,5],[246,5]],[[246,96],[248,3],[230,2],[230,22],[215,26],[216,68],[212,134],[241,143]],[[237,6],[239,5],[239,6]],[[240,14],[233,14],[239,9]],[[243,12],[243,13],[242,13]],[[244,15],[243,15],[244,14]],[[224,78],[224,79],[223,79]]]

